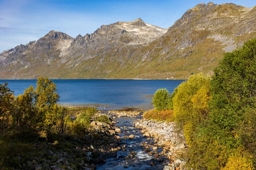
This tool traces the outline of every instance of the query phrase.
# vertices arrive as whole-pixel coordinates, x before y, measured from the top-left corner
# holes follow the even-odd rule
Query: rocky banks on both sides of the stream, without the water
[[[129,128],[137,128],[141,129],[138,131],[140,136],[146,138],[139,143],[140,147],[143,147],[146,155],[154,157],[150,166],[159,164],[163,159],[169,159],[163,164],[164,170],[183,169],[186,162],[180,157],[186,150],[186,145],[179,142],[182,136],[175,133],[174,123],[145,120],[142,118],[143,111],[98,112],[98,116],[103,114],[108,115],[110,122],[91,122],[90,133],[82,138],[68,139],[66,136],[67,142],[64,144],[39,142],[36,146],[38,153],[35,156],[28,153],[17,157],[17,160],[22,162],[20,168],[27,170],[95,170],[97,164],[105,164],[111,157],[123,157],[122,160],[125,160],[127,164],[123,167],[128,168],[133,159],[137,157],[136,150],[128,148],[131,151],[128,156],[125,155],[126,157],[123,155],[120,157],[118,153],[126,150],[124,140],[136,138],[133,130],[128,132]],[[131,122],[131,127],[117,126],[118,121],[115,119],[122,117],[131,117],[135,122]]]

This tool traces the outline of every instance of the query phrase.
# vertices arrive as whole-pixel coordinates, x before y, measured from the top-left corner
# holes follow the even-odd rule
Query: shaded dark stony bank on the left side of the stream
[[[36,150],[18,156],[20,168],[26,170],[95,170],[109,156],[116,156],[119,142],[114,138],[115,129],[110,123],[91,123],[90,133],[74,138],[64,136],[65,142],[38,142]]]

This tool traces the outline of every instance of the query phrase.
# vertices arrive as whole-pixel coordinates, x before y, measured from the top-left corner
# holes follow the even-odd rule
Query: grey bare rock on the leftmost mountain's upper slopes
[[[0,59],[4,58],[0,62],[0,65],[3,65],[0,67],[0,71],[18,71],[27,67],[36,68],[38,65],[51,64],[62,51],[67,49],[65,45],[69,47],[72,40],[73,38],[65,33],[50,31],[38,41],[32,41],[26,45],[21,44],[14,49],[3,51],[0,53]],[[19,78],[19,75],[17,76],[12,78]]]

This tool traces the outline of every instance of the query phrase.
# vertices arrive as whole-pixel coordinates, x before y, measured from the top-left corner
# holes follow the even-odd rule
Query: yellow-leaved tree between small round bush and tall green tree
[[[193,75],[182,82],[174,91],[172,102],[175,121],[188,144],[195,139],[195,129],[209,114],[208,101],[211,99],[210,77],[204,74]]]

